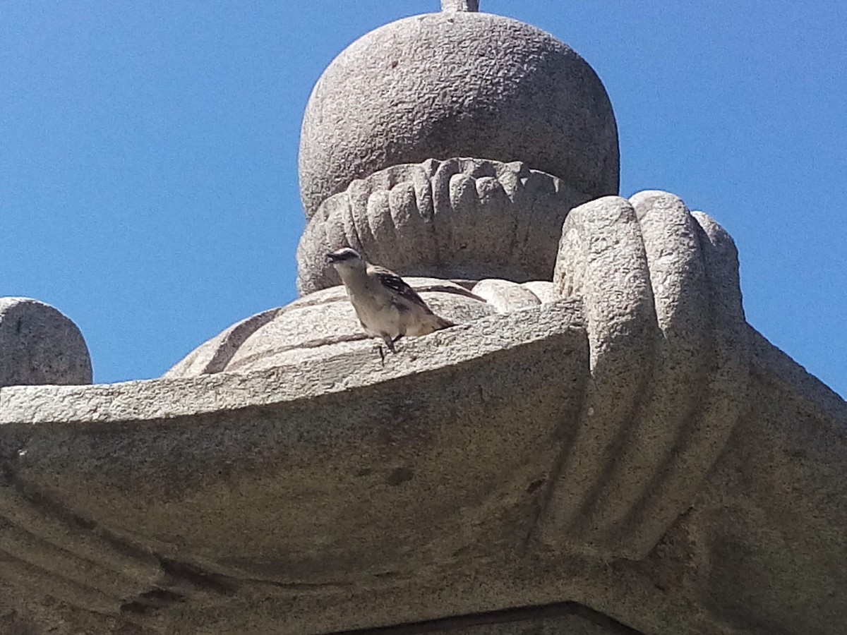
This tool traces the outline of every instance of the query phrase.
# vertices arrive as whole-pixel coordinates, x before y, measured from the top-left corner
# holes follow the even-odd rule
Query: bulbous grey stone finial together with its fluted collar
[[[346,245],[404,275],[549,280],[567,210],[617,194],[594,70],[534,26],[468,11],[374,30],[318,80],[300,145],[302,293],[338,284],[323,254]]]

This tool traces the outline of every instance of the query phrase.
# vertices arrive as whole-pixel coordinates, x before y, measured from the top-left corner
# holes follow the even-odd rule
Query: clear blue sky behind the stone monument
[[[622,194],[736,240],[747,317],[847,395],[844,3],[482,0],[574,47]],[[327,64],[438,0],[0,4],[0,295],[80,326],[97,382],[157,377],[296,296],[297,144]]]

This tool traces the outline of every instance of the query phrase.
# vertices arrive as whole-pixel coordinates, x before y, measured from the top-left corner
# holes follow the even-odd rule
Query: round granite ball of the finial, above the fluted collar
[[[354,179],[448,157],[522,161],[586,200],[617,194],[617,125],[589,64],[534,26],[445,12],[374,30],[324,71],[302,125],[307,217]]]

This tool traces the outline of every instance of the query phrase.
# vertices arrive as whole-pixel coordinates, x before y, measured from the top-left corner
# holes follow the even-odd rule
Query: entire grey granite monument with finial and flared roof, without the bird
[[[847,404],[714,220],[617,196],[588,63],[478,4],[318,80],[289,306],[90,385],[0,301],[0,632],[847,632]],[[381,362],[341,246],[458,325]]]

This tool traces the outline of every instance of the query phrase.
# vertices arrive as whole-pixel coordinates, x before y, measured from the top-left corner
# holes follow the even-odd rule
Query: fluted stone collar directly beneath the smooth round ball
[[[297,287],[305,295],[339,284],[325,254],[342,246],[402,275],[549,280],[562,223],[589,198],[519,162],[386,168],[353,181],[309,221]]]

